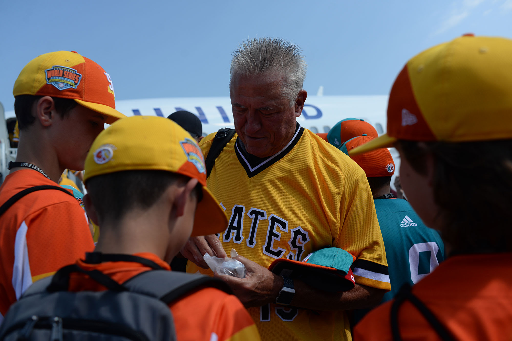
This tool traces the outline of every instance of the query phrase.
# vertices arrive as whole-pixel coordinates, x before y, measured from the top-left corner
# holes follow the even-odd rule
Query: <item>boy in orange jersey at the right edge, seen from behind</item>
[[[511,54],[510,39],[465,35],[413,57],[391,89],[388,133],[350,152],[398,149],[408,200],[448,256],[366,315],[355,340],[510,339]]]

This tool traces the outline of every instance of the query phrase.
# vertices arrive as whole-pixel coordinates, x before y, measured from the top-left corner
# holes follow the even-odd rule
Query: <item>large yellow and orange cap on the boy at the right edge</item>
[[[388,131],[350,155],[397,140],[512,139],[512,40],[464,35],[409,60],[391,89]]]

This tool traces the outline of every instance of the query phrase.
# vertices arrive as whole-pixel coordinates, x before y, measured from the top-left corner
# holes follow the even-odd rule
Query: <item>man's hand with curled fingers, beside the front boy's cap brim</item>
[[[219,258],[227,257],[222,243],[216,235],[190,237],[181,249],[181,254],[203,269],[208,268],[208,264],[203,259],[204,254]]]

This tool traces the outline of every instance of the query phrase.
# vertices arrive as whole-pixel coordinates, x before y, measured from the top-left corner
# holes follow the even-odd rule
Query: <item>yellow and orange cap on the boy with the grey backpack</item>
[[[192,236],[222,232],[227,217],[206,188],[204,157],[196,141],[172,120],[133,116],[103,130],[87,154],[84,181],[127,170],[164,170],[196,178],[203,185]]]

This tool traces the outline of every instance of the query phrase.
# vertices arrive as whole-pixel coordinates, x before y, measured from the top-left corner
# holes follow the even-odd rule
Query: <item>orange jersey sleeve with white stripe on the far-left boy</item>
[[[94,250],[86,213],[71,197],[36,210],[16,224],[2,226],[0,236],[2,314],[33,282]]]

